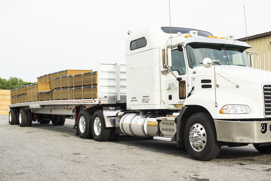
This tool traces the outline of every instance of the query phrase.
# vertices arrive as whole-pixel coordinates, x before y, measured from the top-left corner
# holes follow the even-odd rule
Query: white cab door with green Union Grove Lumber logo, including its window
[[[171,71],[177,76],[181,77],[181,81],[177,81],[172,73],[167,75],[166,79],[166,98],[170,105],[183,104],[187,94],[187,66],[184,58],[184,48],[175,48],[171,50],[172,66]]]

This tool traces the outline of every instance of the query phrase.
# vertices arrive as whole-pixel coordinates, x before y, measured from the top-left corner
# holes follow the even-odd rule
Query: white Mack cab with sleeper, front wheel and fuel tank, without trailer
[[[271,153],[271,72],[249,66],[250,45],[179,27],[128,34],[126,105],[136,112],[120,112],[116,132],[176,141],[200,161],[221,145]]]

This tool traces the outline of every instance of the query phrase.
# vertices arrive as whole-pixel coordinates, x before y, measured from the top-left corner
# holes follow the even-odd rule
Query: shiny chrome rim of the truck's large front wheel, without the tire
[[[201,124],[194,124],[189,133],[190,145],[195,151],[202,151],[206,145],[206,132]]]

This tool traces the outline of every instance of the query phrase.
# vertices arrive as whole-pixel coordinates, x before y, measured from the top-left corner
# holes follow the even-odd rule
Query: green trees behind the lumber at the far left
[[[36,82],[35,82],[36,83]],[[0,89],[11,90],[16,87],[33,84],[32,82],[25,82],[17,77],[9,77],[8,80],[0,78]]]

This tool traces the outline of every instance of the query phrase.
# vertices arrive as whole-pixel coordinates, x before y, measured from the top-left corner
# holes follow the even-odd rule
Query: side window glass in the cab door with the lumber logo
[[[185,60],[183,55],[183,48],[178,48],[171,51],[172,66],[171,71],[177,71],[179,75],[186,73]]]

